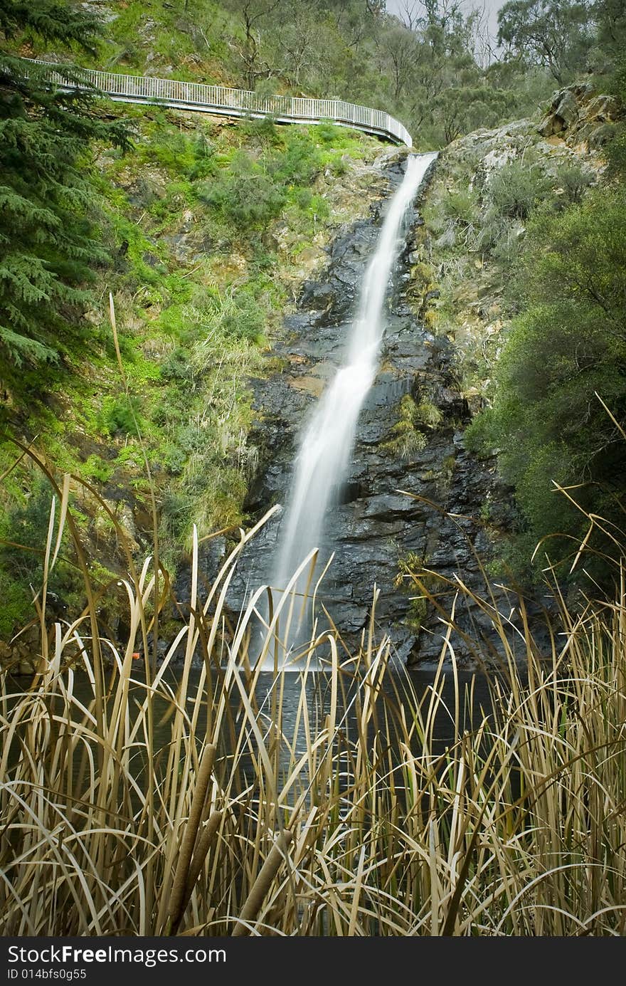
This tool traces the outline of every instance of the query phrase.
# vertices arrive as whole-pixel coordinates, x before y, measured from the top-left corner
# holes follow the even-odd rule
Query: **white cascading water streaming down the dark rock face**
[[[376,251],[361,285],[345,366],[319,399],[303,433],[292,491],[281,527],[272,585],[283,590],[309,552],[318,546],[326,511],[345,480],[359,412],[372,387],[383,339],[383,304],[389,276],[402,246],[402,220],[436,154],[412,155],[393,194]]]

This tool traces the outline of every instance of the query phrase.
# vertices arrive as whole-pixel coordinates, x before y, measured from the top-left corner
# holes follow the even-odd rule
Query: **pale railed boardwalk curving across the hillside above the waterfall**
[[[74,88],[57,71],[54,62],[40,58],[25,61],[48,67],[45,79],[63,89]],[[174,109],[193,109],[218,116],[272,116],[279,123],[319,123],[330,119],[384,137],[395,144],[412,147],[411,136],[398,120],[383,109],[357,106],[343,100],[313,100],[293,96],[261,97],[243,89],[208,86],[201,82],[178,82],[153,76],[118,75],[98,69],[77,69],[85,82],[109,99],[120,103],[156,103]]]

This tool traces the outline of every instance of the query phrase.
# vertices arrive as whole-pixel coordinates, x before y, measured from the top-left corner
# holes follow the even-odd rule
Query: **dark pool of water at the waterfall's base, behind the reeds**
[[[140,700],[145,696],[145,687],[140,683],[141,669],[133,669],[133,676],[138,679],[131,684],[129,694],[130,716],[138,708]],[[243,674],[242,674],[243,678]],[[13,679],[16,693],[28,687],[24,678]],[[167,679],[167,685],[177,690],[179,680],[172,672]],[[320,731],[328,724],[328,717],[333,705],[332,680],[329,672],[283,671],[277,676],[269,672],[261,672],[257,676],[253,688],[254,715],[243,712],[239,688],[231,684],[229,690],[229,716],[224,717],[222,729],[216,738],[213,734],[212,720],[207,716],[212,706],[209,700],[206,680],[202,684],[200,671],[192,670],[187,686],[186,711],[189,720],[192,717],[195,703],[198,701],[198,689],[202,687],[199,696],[200,707],[195,723],[195,741],[200,746],[204,740],[215,740],[218,746],[216,760],[216,776],[226,780],[233,769],[234,751],[238,749],[238,772],[240,780],[237,787],[249,785],[255,788],[255,762],[259,759],[259,737],[265,750],[271,751],[271,761],[276,770],[276,782],[279,790],[285,778],[293,771],[294,763],[301,757],[303,767],[299,781],[307,786],[308,771],[311,770],[306,756],[311,750],[312,743]],[[248,685],[249,688],[249,685]],[[73,693],[79,702],[89,705],[93,698],[91,684],[86,675],[76,673]],[[251,697],[251,696],[250,696]],[[374,710],[364,720],[364,704],[370,702]],[[415,719],[416,707],[421,708],[422,719],[427,718],[430,711],[432,720],[430,752],[437,755],[444,753],[456,738],[465,731],[471,732],[482,722],[485,715],[492,710],[489,680],[483,673],[452,671],[437,675],[435,669],[406,670],[403,668],[387,668],[382,675],[380,687],[370,690],[364,683],[364,674],[340,672],[337,676],[335,698],[334,729],[340,734],[335,743],[335,762],[333,770],[343,775],[348,769],[348,760],[357,746],[364,745],[372,750],[377,746],[379,753],[387,757],[387,763],[397,766],[405,755],[401,752],[401,730],[397,725],[401,721],[409,727]],[[159,774],[168,761],[168,750],[172,742],[172,712],[173,704],[168,698],[166,689],[155,697],[154,703],[154,734],[153,756]],[[57,707],[57,713],[60,707]],[[250,718],[254,723],[250,722]],[[367,722],[364,730],[363,723]],[[402,727],[403,729],[404,727]],[[243,732],[244,740],[241,741]],[[404,734],[405,735],[405,734]],[[420,731],[413,729],[410,740],[411,751],[420,753]],[[338,750],[340,749],[340,752]],[[320,753],[317,753],[317,762]],[[78,759],[78,758],[77,758]],[[136,780],[141,784],[143,768],[140,762],[143,755],[139,754],[135,772]],[[13,757],[10,757],[10,761]],[[145,763],[145,760],[143,761]],[[347,774],[346,774],[347,776]],[[294,785],[302,789],[302,784]],[[343,786],[343,782],[342,782]],[[241,789],[240,787],[240,789]]]

